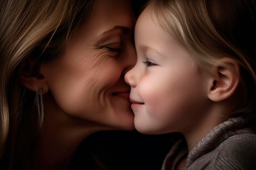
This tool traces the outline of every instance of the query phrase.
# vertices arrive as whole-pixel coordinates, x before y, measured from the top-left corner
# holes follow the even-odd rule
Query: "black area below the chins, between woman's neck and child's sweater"
[[[143,135],[136,130],[97,132],[81,143],[70,169],[161,170],[164,157],[180,137],[178,133]]]

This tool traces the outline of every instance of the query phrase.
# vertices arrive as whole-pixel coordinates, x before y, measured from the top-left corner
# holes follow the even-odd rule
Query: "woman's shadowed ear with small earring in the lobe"
[[[28,58],[21,64],[19,78],[21,84],[30,91],[41,93],[42,88],[44,88],[44,93],[48,91],[45,77],[40,74],[40,66],[32,58]]]

